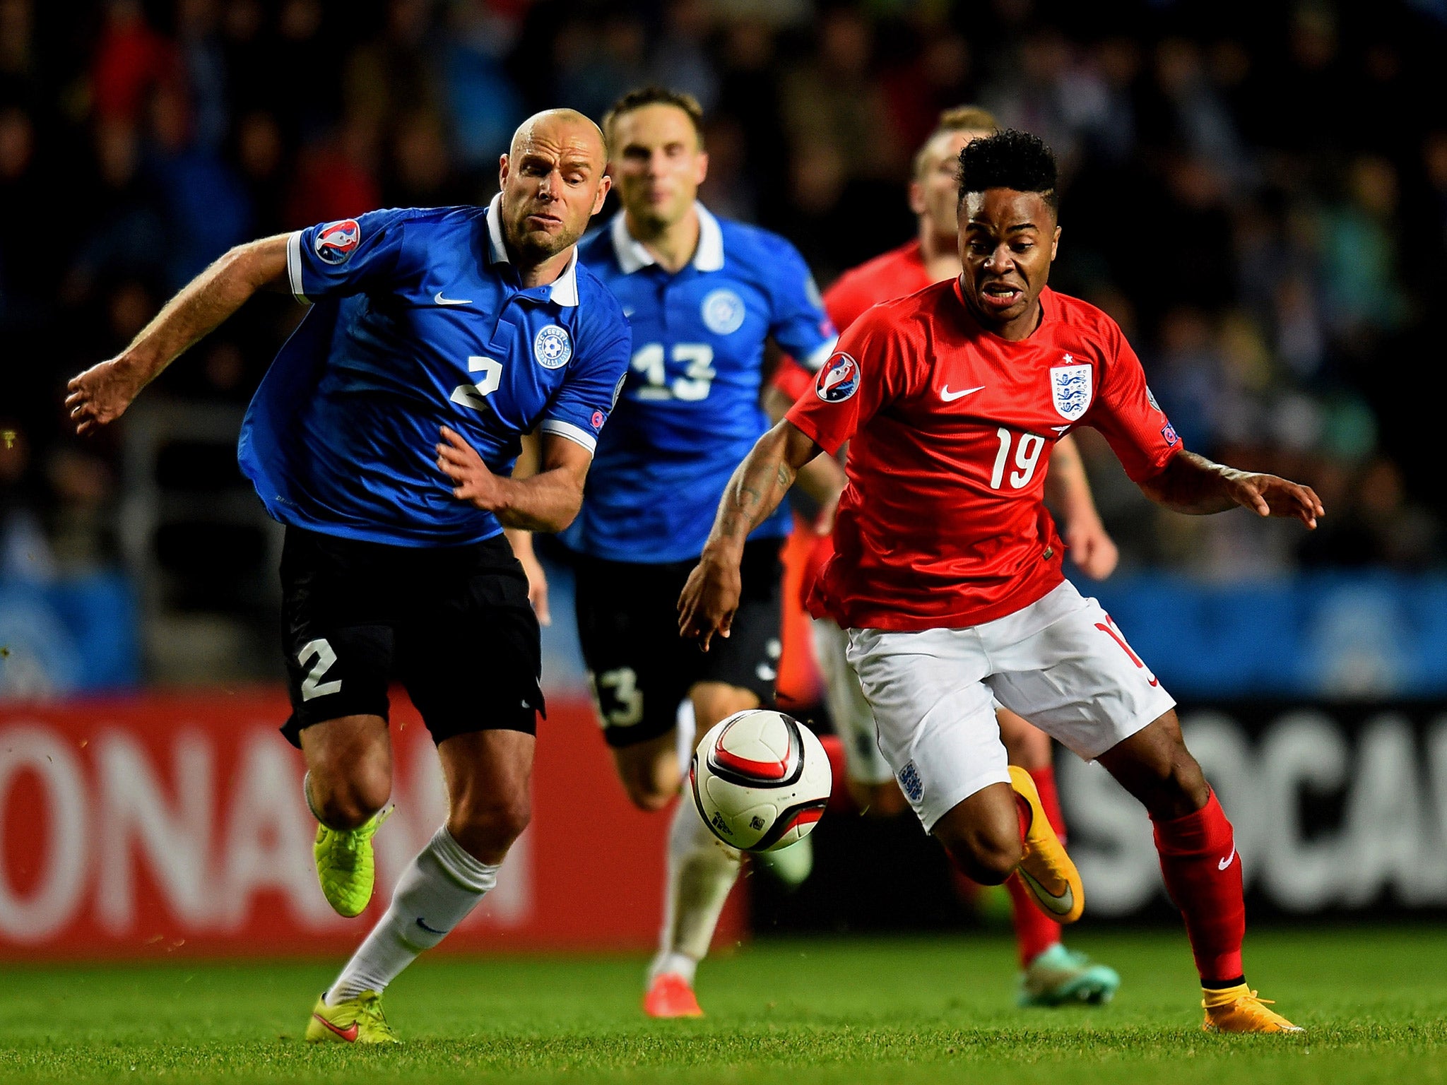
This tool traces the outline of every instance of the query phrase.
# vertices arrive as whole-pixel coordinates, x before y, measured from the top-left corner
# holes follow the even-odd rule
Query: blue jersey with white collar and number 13
[[[818,369],[836,339],[809,268],[783,237],[697,205],[699,246],[660,268],[619,213],[579,246],[622,302],[632,359],[599,437],[583,511],[564,541],[614,561],[686,561],[703,551],[719,498],[768,418],[760,407],[771,336]],[[781,505],[754,538],[789,534]]]

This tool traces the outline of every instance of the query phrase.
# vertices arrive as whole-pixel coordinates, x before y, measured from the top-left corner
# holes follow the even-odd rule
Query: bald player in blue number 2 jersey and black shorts
[[[540,113],[486,208],[373,211],[239,246],[69,383],[87,433],[262,286],[313,302],[252,399],[239,456],[287,525],[282,733],[307,761],[331,907],[356,916],[372,897],[392,676],[437,742],[450,809],[317,1000],[311,1042],[396,1042],[382,991],[478,906],[528,823],[541,648],[502,528],[573,519],[628,365],[618,302],[577,266],[605,166],[593,122]],[[541,470],[509,479],[534,430]]]

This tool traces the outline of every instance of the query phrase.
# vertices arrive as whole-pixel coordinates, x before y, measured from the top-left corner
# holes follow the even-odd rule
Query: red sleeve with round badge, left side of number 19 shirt
[[[904,391],[901,339],[886,321],[865,317],[839,337],[813,386],[789,408],[790,422],[831,456]]]

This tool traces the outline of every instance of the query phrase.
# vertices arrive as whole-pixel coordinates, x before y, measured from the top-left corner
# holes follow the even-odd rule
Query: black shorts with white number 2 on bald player
[[[537,732],[543,650],[528,580],[506,538],[394,547],[287,528],[282,652],[291,719],[388,718],[399,680],[441,742],[473,731]]]

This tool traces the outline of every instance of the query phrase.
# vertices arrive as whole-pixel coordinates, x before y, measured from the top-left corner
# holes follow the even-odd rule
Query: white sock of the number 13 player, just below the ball
[[[699,961],[709,952],[728,891],[738,878],[742,856],[703,825],[684,794],[669,827],[669,884],[664,898],[658,955],[648,968],[651,984],[664,972],[677,972],[690,985]]]

